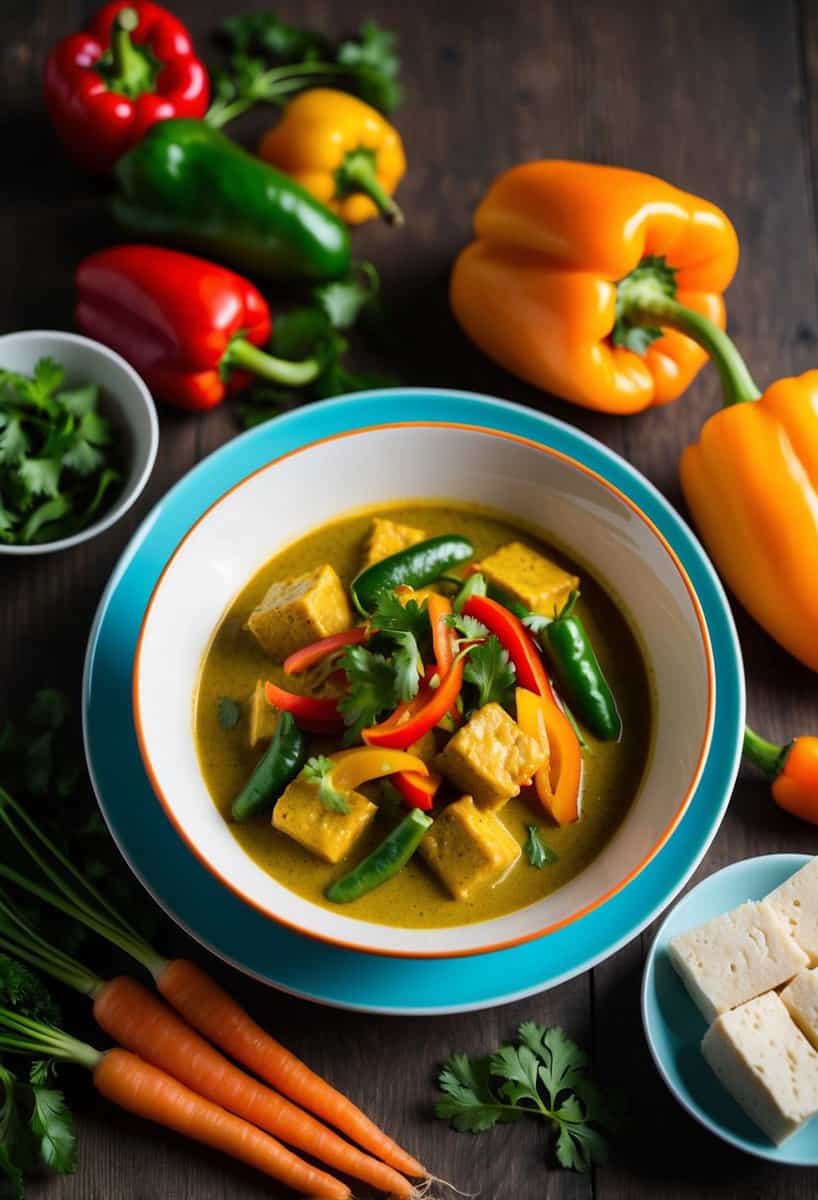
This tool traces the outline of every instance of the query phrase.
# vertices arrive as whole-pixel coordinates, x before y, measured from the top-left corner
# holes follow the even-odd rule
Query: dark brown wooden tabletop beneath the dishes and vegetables
[[[104,190],[66,164],[40,100],[48,47],[80,28],[92,7],[77,0],[0,4],[4,331],[72,328],[73,268],[101,242],[115,240],[103,215]],[[199,48],[215,53],[211,32],[233,5],[178,0],[175,8]],[[554,413],[624,454],[680,503],[679,452],[718,402],[711,370],[670,408],[621,420],[595,416],[537,395],[492,366],[447,312],[449,266],[483,188],[509,164],[540,156],[642,168],[722,205],[742,245],[729,293],[730,328],[757,379],[764,384],[817,364],[818,6],[811,0],[288,0],[278,10],[331,32],[374,17],[399,34],[407,97],[398,122],[409,158],[399,199],[407,228],[367,227],[356,235],[356,252],[380,268],[401,322],[401,349],[383,365],[402,382],[473,388]],[[236,136],[252,136],[259,127],[253,121]],[[206,419],[163,412],[161,420],[154,478],[126,521],[68,554],[0,559],[0,710],[14,710],[35,688],[53,682],[78,703],[85,638],[118,554],[167,487],[235,433],[227,410]],[[814,676],[741,612],[736,618],[753,724],[782,740],[818,730]],[[766,787],[742,775],[698,874],[751,854],[816,846],[814,829],[778,812]],[[547,995],[434,1020],[337,1013],[210,965],[271,1030],[437,1174],[491,1200],[806,1200],[814,1194],[814,1176],[729,1150],[664,1090],[639,1021],[649,937]],[[440,970],[443,976],[449,968]],[[547,1165],[545,1130],[534,1123],[471,1139],[431,1118],[435,1063],[453,1049],[492,1049],[529,1016],[564,1025],[593,1049],[601,1078],[630,1093],[631,1133],[594,1176]],[[78,1026],[82,1031],[79,1019]],[[79,1169],[71,1178],[32,1184],[37,1200],[279,1194],[248,1170],[114,1112],[77,1074],[66,1070],[64,1086],[78,1108]]]

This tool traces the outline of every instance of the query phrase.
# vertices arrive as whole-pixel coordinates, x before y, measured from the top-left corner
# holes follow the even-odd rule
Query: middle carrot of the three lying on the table
[[[115,1042],[199,1096],[335,1170],[391,1195],[413,1195],[411,1184],[402,1175],[246,1075],[136,979],[120,976],[102,984],[94,998],[94,1016]]]

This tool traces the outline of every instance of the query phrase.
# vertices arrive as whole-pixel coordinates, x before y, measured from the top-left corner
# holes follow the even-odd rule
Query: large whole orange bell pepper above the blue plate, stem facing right
[[[724,326],[735,230],[652,175],[524,163],[489,187],[474,228],[452,271],[455,317],[509,371],[575,404],[675,400]]]

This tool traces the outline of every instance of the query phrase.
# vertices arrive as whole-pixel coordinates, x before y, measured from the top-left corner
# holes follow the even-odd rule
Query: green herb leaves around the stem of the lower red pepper
[[[270,352],[283,359],[317,356],[321,372],[309,388],[288,391],[269,384],[257,384],[239,406],[245,428],[269,421],[282,412],[296,408],[305,400],[327,400],[349,391],[385,388],[395,380],[375,372],[355,372],[345,365],[353,326],[380,322],[380,281],[371,263],[357,263],[343,280],[325,283],[313,290],[312,304],[293,308],[276,322]]]

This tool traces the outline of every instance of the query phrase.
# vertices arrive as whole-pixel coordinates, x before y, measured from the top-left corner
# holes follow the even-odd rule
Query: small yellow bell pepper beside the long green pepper
[[[331,88],[302,91],[258,152],[348,224],[379,214],[390,224],[403,223],[392,199],[407,169],[401,136],[356,96]]]

